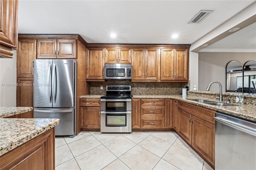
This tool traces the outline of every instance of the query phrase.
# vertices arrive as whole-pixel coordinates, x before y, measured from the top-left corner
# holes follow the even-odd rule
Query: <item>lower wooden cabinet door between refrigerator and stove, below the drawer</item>
[[[80,107],[80,128],[100,128],[100,107]]]

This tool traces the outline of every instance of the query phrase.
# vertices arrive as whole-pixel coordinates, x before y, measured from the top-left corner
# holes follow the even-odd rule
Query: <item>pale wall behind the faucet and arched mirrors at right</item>
[[[237,60],[242,65],[246,61],[256,61],[256,53],[220,53],[199,52],[198,53],[198,90],[206,91],[212,81],[222,84],[222,91],[226,90],[226,65],[229,61]],[[218,84],[213,84],[210,91],[219,92]]]

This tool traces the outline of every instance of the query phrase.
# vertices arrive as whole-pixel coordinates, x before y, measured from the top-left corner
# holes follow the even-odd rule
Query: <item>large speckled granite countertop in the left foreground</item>
[[[60,123],[60,119],[0,119],[0,156]]]

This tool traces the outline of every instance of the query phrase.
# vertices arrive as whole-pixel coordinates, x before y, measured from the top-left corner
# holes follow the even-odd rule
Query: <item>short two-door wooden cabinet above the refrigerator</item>
[[[76,40],[38,39],[37,58],[76,59]]]

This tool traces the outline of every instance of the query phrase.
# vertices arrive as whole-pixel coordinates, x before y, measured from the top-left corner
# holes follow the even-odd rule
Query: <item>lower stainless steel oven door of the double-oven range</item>
[[[100,132],[131,133],[132,111],[105,112],[100,111]]]

